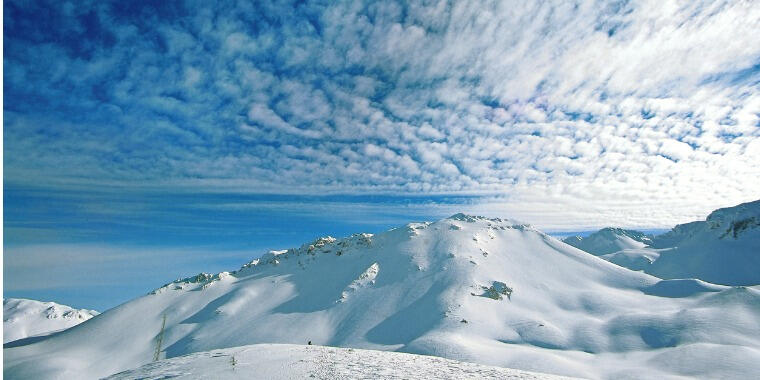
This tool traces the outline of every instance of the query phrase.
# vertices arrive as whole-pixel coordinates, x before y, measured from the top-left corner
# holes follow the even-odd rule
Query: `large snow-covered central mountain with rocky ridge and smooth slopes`
[[[4,350],[4,375],[96,378],[156,357],[308,341],[585,378],[750,378],[760,289],[661,281],[528,225],[457,214],[169,283]]]

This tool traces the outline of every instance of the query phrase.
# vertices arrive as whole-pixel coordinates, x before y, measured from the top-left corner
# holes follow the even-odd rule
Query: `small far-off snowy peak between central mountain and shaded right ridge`
[[[585,238],[570,236],[563,241],[592,255],[601,256],[623,249],[644,248],[652,243],[652,236],[639,231],[607,227]]]

